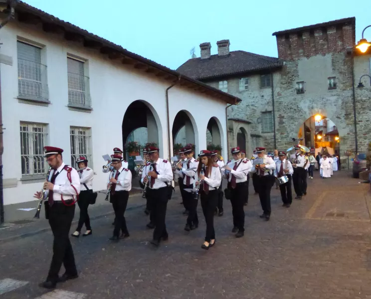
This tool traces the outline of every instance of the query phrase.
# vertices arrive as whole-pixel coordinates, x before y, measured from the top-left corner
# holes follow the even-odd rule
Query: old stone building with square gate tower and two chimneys
[[[242,145],[251,154],[256,146],[304,145],[306,136],[312,143],[314,126],[304,134],[305,123],[319,114],[335,123],[338,154],[346,160],[346,150],[365,152],[370,142],[369,78],[363,89],[357,86],[371,74],[371,50],[359,55],[355,30],[353,17],[275,32],[278,58],[229,51],[229,40],[217,42],[218,54],[210,55],[211,44],[203,43],[201,57],[178,71],[243,100],[228,109],[229,147]]]

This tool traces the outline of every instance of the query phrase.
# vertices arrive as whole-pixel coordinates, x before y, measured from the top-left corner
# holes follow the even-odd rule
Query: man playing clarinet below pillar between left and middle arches
[[[151,167],[146,167],[143,171],[142,182],[148,182],[146,192],[148,192],[148,197],[152,203],[151,216],[155,224],[155,230],[151,244],[159,246],[161,239],[166,241],[169,238],[165,218],[169,200],[168,187],[173,180],[173,169],[168,160],[160,158],[158,148],[149,147],[147,153],[151,161]]]

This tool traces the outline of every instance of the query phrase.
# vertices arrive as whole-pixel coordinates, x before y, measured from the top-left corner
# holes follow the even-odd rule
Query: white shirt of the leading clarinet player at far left
[[[77,173],[75,168],[68,166],[71,168],[71,181],[72,182],[70,182],[67,178],[67,170],[63,169],[65,165],[66,164],[62,162],[62,164],[57,168],[57,170],[52,170],[50,171],[50,174],[49,174],[48,181],[50,182],[54,171],[59,173],[54,181],[54,188],[53,188],[53,200],[54,201],[61,201],[62,196],[63,196],[63,200],[69,200],[69,199],[75,200],[76,191],[77,191],[77,194],[80,194],[79,174]],[[73,188],[72,186],[75,188]],[[48,195],[49,195],[49,190],[46,190],[44,194],[45,194],[44,199],[47,200]]]

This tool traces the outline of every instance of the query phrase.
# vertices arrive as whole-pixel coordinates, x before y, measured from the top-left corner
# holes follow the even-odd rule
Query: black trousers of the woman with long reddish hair
[[[205,216],[206,222],[206,236],[205,241],[210,242],[210,240],[215,239],[214,230],[214,211],[218,203],[219,190],[210,190],[206,194],[201,191],[200,200],[203,216]]]

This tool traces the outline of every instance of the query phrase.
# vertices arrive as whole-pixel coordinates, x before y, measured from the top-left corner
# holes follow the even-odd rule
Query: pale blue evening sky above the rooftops
[[[230,40],[230,50],[277,57],[272,33],[356,17],[356,39],[371,24],[371,0],[25,0],[129,51],[176,69],[195,47]],[[365,31],[371,40],[371,28]]]

